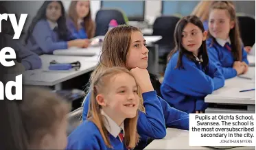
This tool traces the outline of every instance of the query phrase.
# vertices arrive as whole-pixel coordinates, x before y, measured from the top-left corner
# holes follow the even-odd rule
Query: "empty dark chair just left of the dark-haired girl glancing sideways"
[[[159,16],[154,21],[152,35],[162,36],[162,39],[156,42],[159,45],[159,64],[163,67],[161,74],[165,71],[168,53],[174,49],[174,29],[179,20],[178,16]]]

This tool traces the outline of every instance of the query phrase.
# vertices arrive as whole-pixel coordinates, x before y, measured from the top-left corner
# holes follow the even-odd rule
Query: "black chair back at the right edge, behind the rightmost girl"
[[[237,13],[240,35],[244,46],[253,46],[255,43],[255,17],[248,14]]]

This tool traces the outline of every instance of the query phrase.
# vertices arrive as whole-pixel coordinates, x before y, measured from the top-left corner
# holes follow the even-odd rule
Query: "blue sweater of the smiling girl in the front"
[[[124,142],[108,133],[108,138],[113,149],[126,149]],[[105,150],[105,142],[97,126],[91,121],[83,121],[68,137],[66,149]]]

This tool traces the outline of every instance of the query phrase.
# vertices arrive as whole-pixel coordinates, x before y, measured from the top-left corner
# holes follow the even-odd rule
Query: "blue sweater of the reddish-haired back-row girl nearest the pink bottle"
[[[72,36],[76,39],[84,39],[88,38],[86,34],[86,29],[84,28],[84,23],[81,23],[82,28],[79,30],[75,28],[74,22],[71,20],[71,18],[67,19],[67,27],[69,28],[69,31],[71,32]]]

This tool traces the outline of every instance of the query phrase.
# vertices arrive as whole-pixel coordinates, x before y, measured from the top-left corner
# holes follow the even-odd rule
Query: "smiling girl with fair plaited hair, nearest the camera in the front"
[[[91,91],[88,119],[69,135],[66,149],[133,149],[139,141],[135,77],[126,68],[108,68]]]

